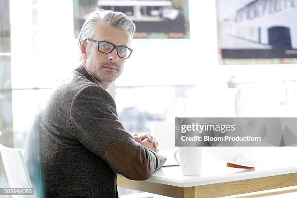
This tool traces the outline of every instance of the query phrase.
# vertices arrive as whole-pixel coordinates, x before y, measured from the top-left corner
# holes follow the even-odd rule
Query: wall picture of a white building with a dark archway
[[[297,0],[216,0],[221,64],[296,63]]]

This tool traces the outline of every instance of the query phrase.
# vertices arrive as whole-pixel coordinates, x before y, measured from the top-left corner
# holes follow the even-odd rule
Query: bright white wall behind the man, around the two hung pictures
[[[62,79],[79,56],[72,0],[37,0],[35,37],[32,0],[10,0],[10,5],[13,87],[50,86]],[[191,39],[134,39],[117,85],[221,82],[229,75],[243,82],[297,78],[294,65],[219,66],[215,1],[189,0],[189,8]]]

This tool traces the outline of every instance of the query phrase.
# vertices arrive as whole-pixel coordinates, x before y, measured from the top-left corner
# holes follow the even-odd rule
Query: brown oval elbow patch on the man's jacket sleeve
[[[130,180],[147,180],[151,175],[148,161],[131,145],[117,143],[108,148],[105,156],[117,173]]]

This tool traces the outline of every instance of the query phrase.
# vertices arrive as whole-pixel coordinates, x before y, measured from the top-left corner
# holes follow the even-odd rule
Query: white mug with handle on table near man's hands
[[[180,160],[177,154],[180,153]],[[199,175],[201,170],[202,147],[179,147],[174,159],[181,166],[183,175]]]

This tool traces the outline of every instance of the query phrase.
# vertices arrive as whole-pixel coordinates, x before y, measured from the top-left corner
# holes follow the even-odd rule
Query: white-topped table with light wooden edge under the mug
[[[146,181],[118,175],[117,186],[175,198],[215,198],[297,185],[297,148],[268,149],[259,154],[255,169],[226,167],[203,153],[199,176],[183,176],[180,166],[167,166]]]

